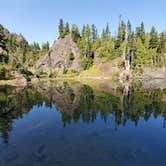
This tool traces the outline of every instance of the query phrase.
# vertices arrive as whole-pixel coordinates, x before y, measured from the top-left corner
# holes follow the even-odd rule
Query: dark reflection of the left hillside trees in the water
[[[32,87],[19,92],[12,87],[0,87],[0,132],[5,143],[8,142],[13,120],[22,118],[33,105],[40,106],[42,102],[42,96]]]

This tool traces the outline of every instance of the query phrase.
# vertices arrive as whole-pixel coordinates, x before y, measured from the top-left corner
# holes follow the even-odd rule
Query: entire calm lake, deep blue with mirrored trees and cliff
[[[0,86],[0,166],[165,166],[166,91]]]

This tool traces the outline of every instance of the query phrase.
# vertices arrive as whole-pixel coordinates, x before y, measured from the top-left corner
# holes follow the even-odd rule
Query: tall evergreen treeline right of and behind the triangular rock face
[[[70,29],[69,23],[64,24],[60,19],[59,38],[68,34],[78,44],[84,69],[93,65],[94,55],[103,62],[122,57],[131,68],[166,65],[166,31],[158,33],[153,26],[150,32],[146,32],[144,22],[133,30],[130,21],[121,20],[114,36],[108,24],[99,35],[94,24],[83,25],[81,30],[73,24]]]

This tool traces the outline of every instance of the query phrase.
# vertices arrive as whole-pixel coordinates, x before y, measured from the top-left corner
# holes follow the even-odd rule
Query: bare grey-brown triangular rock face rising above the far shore
[[[74,58],[70,59],[70,54]],[[36,62],[35,68],[44,70],[47,68],[59,69],[73,69],[80,71],[79,50],[77,44],[73,42],[71,35],[65,36],[63,39],[55,41],[50,51]]]

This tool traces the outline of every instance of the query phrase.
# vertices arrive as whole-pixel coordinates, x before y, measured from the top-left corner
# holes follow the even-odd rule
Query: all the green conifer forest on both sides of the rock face
[[[153,26],[147,32],[144,22],[133,28],[129,20],[127,23],[120,20],[116,35],[111,33],[108,23],[101,34],[94,24],[83,25],[82,28],[72,24],[70,28],[69,23],[62,19],[59,20],[58,29],[58,39],[70,34],[77,44],[83,70],[94,65],[95,57],[99,57],[102,63],[121,57],[120,67],[124,67],[125,61],[128,61],[132,70],[166,66],[166,31],[159,33]],[[10,33],[0,25],[0,79],[11,79],[11,71],[29,74],[29,69],[49,49],[48,42],[42,46],[37,42],[29,44],[21,34]],[[69,57],[71,61],[74,59],[72,53]]]

